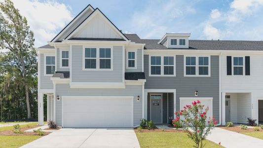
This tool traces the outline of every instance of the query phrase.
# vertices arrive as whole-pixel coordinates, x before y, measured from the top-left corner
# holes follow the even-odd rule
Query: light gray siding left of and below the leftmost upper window
[[[51,76],[44,75],[44,54],[40,54],[40,89],[53,89]]]

